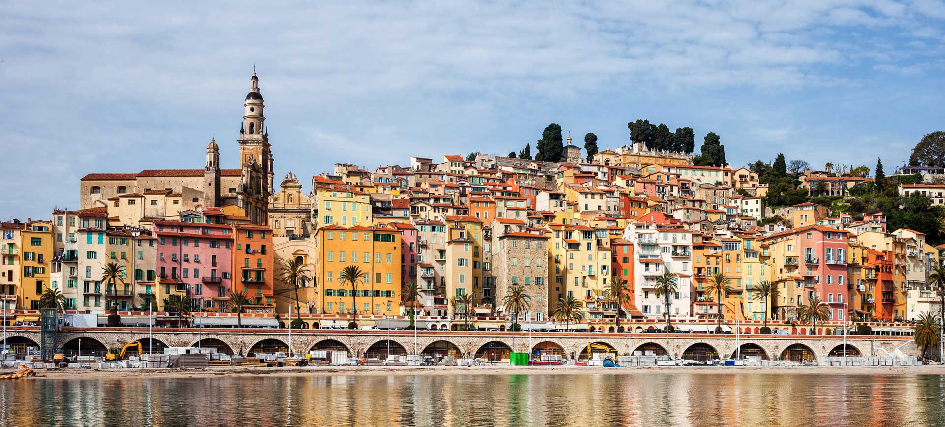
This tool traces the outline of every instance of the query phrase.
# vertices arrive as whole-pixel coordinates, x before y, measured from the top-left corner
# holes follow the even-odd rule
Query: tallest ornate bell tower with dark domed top
[[[249,93],[243,101],[243,122],[236,140],[241,169],[237,199],[253,224],[266,223],[268,200],[272,195],[272,152],[263,114],[265,108],[259,77],[254,72],[249,78]]]

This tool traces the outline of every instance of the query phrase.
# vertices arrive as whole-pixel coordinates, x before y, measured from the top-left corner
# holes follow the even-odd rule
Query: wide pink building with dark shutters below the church
[[[166,298],[180,283],[204,310],[229,311],[232,291],[232,227],[228,224],[155,221],[157,270]],[[163,301],[159,300],[159,304]]]

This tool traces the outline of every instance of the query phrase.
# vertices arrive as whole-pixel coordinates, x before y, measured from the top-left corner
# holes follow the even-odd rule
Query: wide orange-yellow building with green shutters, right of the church
[[[352,314],[355,298],[358,315],[400,313],[401,231],[389,227],[325,225],[318,228],[316,240],[318,313]],[[353,290],[352,283],[341,280],[341,272],[347,266],[356,266],[363,273]]]

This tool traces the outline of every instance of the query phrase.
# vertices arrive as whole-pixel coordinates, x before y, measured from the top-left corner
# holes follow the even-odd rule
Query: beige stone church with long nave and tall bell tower
[[[146,169],[138,173],[94,173],[80,184],[80,209],[118,208],[141,225],[176,219],[180,211],[236,205],[253,224],[266,224],[272,196],[272,152],[259,77],[249,79],[240,125],[239,168],[223,169],[211,139],[202,169]],[[135,206],[135,204],[139,206]],[[139,224],[129,224],[139,225]]]

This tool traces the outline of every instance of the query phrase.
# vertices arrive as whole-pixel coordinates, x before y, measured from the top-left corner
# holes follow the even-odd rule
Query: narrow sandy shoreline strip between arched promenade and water
[[[7,369],[0,374],[8,373]],[[945,375],[945,366],[921,367],[207,367],[205,369],[81,369],[37,370],[36,377],[7,380],[107,380],[220,377],[304,377],[387,375],[544,375],[544,374],[704,374],[704,375]]]

